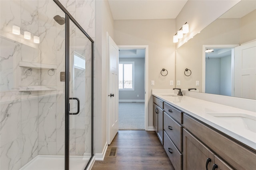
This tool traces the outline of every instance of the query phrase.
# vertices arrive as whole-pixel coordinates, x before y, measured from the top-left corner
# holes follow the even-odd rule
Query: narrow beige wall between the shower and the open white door
[[[114,37],[114,20],[108,1],[96,0],[95,30],[95,152],[102,156],[107,143],[107,32]],[[98,158],[100,159],[100,158]]]

